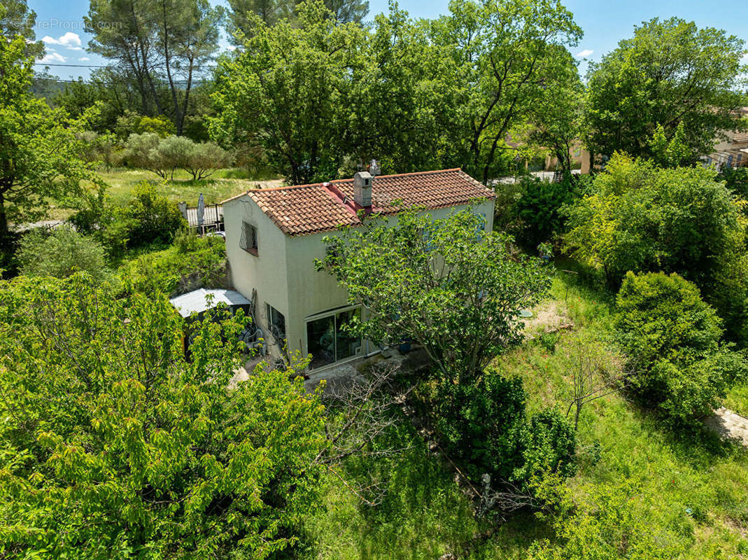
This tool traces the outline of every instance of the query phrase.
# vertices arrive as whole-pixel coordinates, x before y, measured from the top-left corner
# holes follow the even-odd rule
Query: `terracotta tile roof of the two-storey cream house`
[[[357,212],[362,208],[353,201],[353,179],[255,189],[245,194],[287,235],[313,234],[334,230],[339,225],[361,224]],[[494,196],[491,189],[461,169],[381,175],[373,181],[372,212],[391,215],[403,206],[435,210]],[[398,205],[398,201],[402,201],[402,205]]]

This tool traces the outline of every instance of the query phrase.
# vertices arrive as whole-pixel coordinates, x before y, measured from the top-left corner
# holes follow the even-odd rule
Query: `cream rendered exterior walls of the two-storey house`
[[[465,206],[440,208],[426,213],[434,219],[442,219],[463,208]],[[494,201],[482,202],[475,207],[475,211],[485,216],[486,231],[491,231]],[[239,246],[242,220],[257,227],[257,257]],[[395,223],[396,217],[390,217],[389,221]],[[298,350],[302,356],[306,356],[306,323],[309,317],[348,305],[346,290],[337,284],[334,277],[314,270],[315,259],[325,257],[322,239],[337,232],[286,236],[248,196],[224,204],[224,223],[233,286],[248,299],[251,299],[252,289],[257,290],[259,316],[256,318],[265,332],[268,326],[266,302],[281,311],[286,318],[289,353]],[[364,353],[373,350],[373,347],[364,347]]]

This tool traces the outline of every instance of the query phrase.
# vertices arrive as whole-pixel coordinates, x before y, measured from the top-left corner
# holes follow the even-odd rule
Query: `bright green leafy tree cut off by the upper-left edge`
[[[10,223],[46,215],[50,199],[81,190],[91,174],[79,157],[76,123],[29,92],[33,58],[21,36],[0,41],[0,240]]]

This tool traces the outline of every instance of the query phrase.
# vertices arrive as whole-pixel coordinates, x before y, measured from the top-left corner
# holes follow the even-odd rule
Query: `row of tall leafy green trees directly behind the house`
[[[346,156],[389,172],[464,165],[485,182],[514,165],[506,137],[530,115],[554,145],[573,135],[551,124],[560,91],[579,85],[565,46],[581,29],[557,1],[454,1],[432,22],[393,4],[371,28],[336,24],[321,1],[298,4],[295,22],[278,2],[233,4],[251,31],[219,65],[211,136],[259,145],[291,183],[330,180]]]

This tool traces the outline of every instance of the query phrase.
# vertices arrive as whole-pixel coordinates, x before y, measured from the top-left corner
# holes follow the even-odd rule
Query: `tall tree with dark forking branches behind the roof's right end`
[[[576,46],[581,28],[557,0],[453,0],[432,25],[432,38],[459,64],[460,112],[446,131],[459,162],[484,182],[517,127],[560,85],[575,81],[564,48]]]

